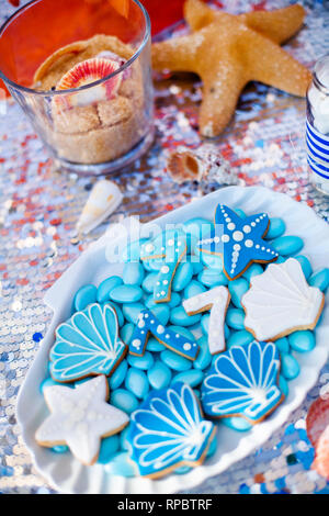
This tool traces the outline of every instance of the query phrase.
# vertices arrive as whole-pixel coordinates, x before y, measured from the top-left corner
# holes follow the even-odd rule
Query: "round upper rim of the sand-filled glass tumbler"
[[[15,16],[18,16],[21,13],[21,11],[24,11],[26,8],[31,7],[33,3],[36,3],[39,0],[31,0],[30,2],[25,3],[25,5],[22,5],[20,9],[18,9],[8,20],[5,20],[5,22],[0,27],[0,37],[3,34],[3,31],[7,29],[7,26],[10,25],[12,20]],[[123,65],[121,65],[116,70],[114,70],[112,74],[109,74],[107,76],[103,77],[102,79],[98,79],[93,82],[90,82],[89,85],[80,86],[79,88],[69,88],[67,90],[48,90],[48,91],[35,90],[35,89],[29,88],[26,86],[18,85],[13,80],[9,79],[3,74],[1,68],[0,68],[0,79],[2,79],[3,82],[7,86],[10,86],[11,88],[13,88],[15,90],[20,90],[20,91],[23,91],[23,92],[29,93],[29,94],[37,94],[37,96],[41,96],[41,97],[57,97],[57,96],[61,96],[61,94],[76,93],[78,91],[83,91],[83,90],[87,90],[87,89],[92,88],[94,86],[102,85],[103,82],[111,79],[112,77],[115,77],[116,75],[123,72],[141,54],[144,47],[146,46],[146,44],[147,44],[147,42],[150,37],[150,26],[151,26],[151,24],[150,24],[150,19],[149,19],[149,14],[148,14],[147,10],[143,5],[143,3],[139,2],[139,0],[131,0],[131,1],[136,3],[136,5],[138,5],[138,8],[140,9],[140,11],[144,14],[144,19],[145,19],[145,22],[146,22],[145,34],[144,34],[141,43],[139,44],[138,48],[134,52],[133,56],[129,59],[127,59]]]

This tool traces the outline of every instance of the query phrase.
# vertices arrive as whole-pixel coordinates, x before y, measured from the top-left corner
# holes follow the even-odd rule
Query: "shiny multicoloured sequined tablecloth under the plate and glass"
[[[288,1],[214,2],[232,13],[283,7]],[[326,0],[305,2],[306,26],[286,46],[311,67],[329,52]],[[0,21],[14,11],[0,0]],[[178,24],[174,32],[184,32]],[[112,179],[124,202],[83,240],[75,224],[95,179],[56,171],[41,141],[13,102],[0,97],[0,492],[53,493],[32,465],[15,420],[15,401],[52,314],[46,290],[100,237],[109,222],[127,215],[155,218],[202,195],[197,184],[178,186],[166,173],[167,153],[197,147],[201,85],[185,76],[156,82],[156,141],[146,157]],[[263,184],[307,203],[329,220],[329,200],[309,184],[304,143],[305,101],[262,85],[245,90],[234,122],[214,145],[238,172],[239,184]],[[305,430],[307,410],[328,383],[329,363],[318,385],[286,425],[254,453],[191,493],[329,493],[329,483],[310,469],[314,450]]]

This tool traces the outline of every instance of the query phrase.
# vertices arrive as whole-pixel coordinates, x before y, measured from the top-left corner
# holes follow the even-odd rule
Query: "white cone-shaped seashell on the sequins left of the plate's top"
[[[98,181],[84,204],[77,231],[87,235],[117,209],[122,199],[123,194],[114,182],[106,179]]]

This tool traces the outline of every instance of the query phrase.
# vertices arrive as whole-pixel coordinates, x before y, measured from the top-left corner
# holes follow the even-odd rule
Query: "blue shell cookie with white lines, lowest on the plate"
[[[152,391],[132,414],[131,457],[144,476],[195,467],[204,460],[215,431],[214,424],[202,417],[193,390],[178,382]]]

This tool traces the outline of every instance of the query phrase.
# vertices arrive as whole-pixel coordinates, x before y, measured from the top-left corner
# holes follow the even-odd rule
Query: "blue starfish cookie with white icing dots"
[[[200,240],[198,248],[209,255],[224,256],[224,271],[229,279],[239,277],[252,261],[270,262],[279,254],[263,239],[269,227],[265,213],[240,218],[232,210],[218,204],[215,228]]]

